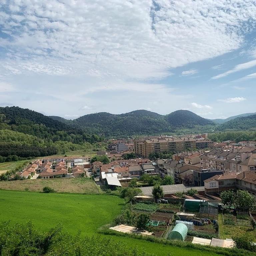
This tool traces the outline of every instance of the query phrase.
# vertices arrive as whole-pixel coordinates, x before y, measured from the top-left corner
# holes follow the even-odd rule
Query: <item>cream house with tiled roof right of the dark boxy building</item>
[[[227,189],[236,189],[237,174],[228,172],[204,180],[205,193],[220,193]]]

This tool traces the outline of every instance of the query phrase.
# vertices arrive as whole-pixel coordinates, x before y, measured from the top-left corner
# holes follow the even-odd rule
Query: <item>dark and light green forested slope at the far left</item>
[[[0,108],[1,162],[65,153],[103,139],[29,109]]]

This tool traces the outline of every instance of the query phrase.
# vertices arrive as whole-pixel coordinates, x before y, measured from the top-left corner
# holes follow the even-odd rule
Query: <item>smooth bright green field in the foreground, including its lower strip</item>
[[[71,234],[98,235],[97,228],[110,223],[122,210],[124,201],[109,195],[44,194],[0,190],[0,221],[32,221],[49,230],[58,222]],[[109,237],[109,236],[108,236]],[[212,252],[185,249],[128,237],[111,236],[114,241],[161,256],[216,256]]]

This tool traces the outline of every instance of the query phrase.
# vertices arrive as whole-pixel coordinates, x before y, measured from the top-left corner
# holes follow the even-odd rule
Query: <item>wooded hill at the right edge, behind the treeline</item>
[[[256,115],[238,117],[221,124],[217,130],[256,130]]]

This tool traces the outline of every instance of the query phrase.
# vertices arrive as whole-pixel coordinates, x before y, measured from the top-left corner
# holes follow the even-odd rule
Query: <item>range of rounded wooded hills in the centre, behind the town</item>
[[[211,120],[188,110],[178,110],[169,115],[160,115],[147,110],[135,110],[119,115],[100,112],[81,116],[72,122],[105,136],[160,134],[173,132],[177,128],[214,125]]]

